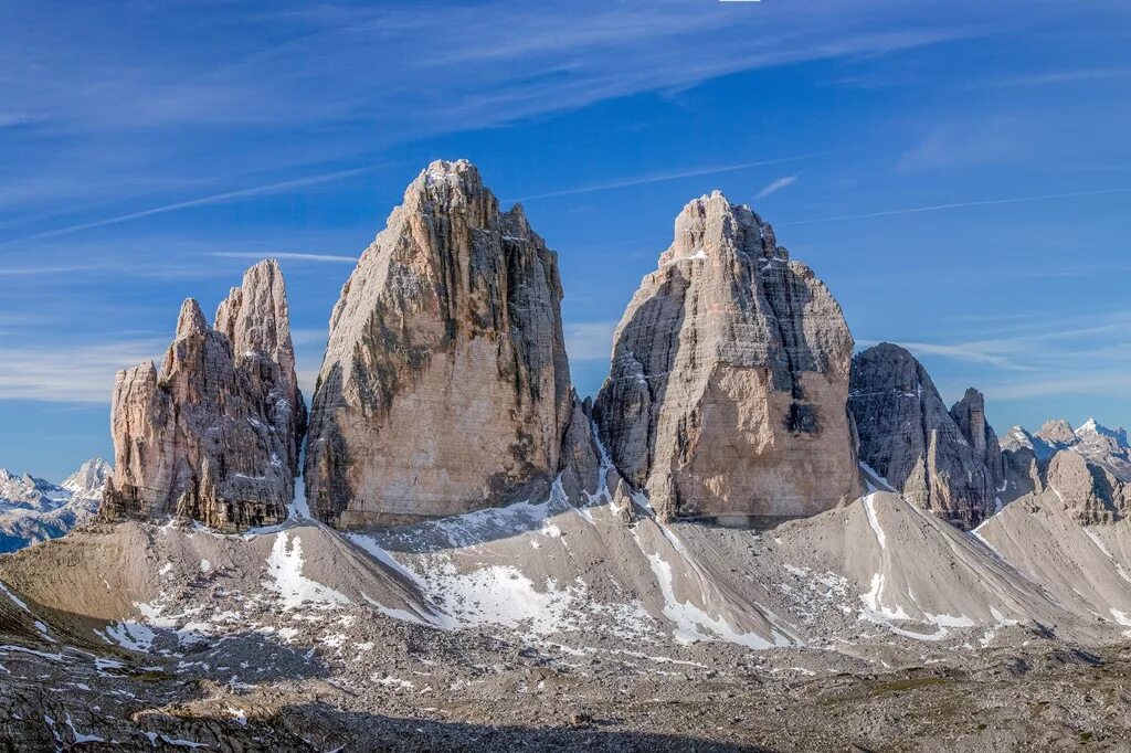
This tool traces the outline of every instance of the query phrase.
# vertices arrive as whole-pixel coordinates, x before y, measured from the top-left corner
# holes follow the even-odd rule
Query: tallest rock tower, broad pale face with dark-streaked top
[[[572,414],[558,258],[468,162],[435,162],[342,289],[311,510],[342,528],[544,499]]]

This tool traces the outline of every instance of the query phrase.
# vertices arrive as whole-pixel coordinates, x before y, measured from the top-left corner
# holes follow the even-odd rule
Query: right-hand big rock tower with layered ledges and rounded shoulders
[[[840,306],[769,224],[714,192],[684,207],[616,330],[601,438],[666,519],[759,525],[861,492]]]

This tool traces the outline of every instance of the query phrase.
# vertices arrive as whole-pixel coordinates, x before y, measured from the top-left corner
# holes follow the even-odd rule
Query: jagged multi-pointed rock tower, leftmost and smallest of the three
[[[101,513],[178,516],[222,531],[278,522],[294,499],[305,425],[283,276],[262,261],[219,305],[215,327],[184,302],[161,371],[118,373]]]

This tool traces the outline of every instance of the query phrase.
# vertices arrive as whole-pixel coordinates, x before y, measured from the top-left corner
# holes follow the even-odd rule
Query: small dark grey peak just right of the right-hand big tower
[[[882,343],[853,360],[848,408],[861,460],[908,501],[965,529],[993,514],[1004,469],[976,391],[952,416],[923,365]]]

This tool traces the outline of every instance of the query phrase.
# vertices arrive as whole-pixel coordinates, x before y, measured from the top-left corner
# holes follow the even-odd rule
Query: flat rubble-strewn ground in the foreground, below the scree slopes
[[[389,623],[366,625],[368,650],[244,639],[145,666],[9,646],[0,732],[21,751],[1122,750],[1131,735],[1131,652],[1037,635],[875,670],[731,647],[577,656]],[[274,676],[243,669],[259,663]]]

